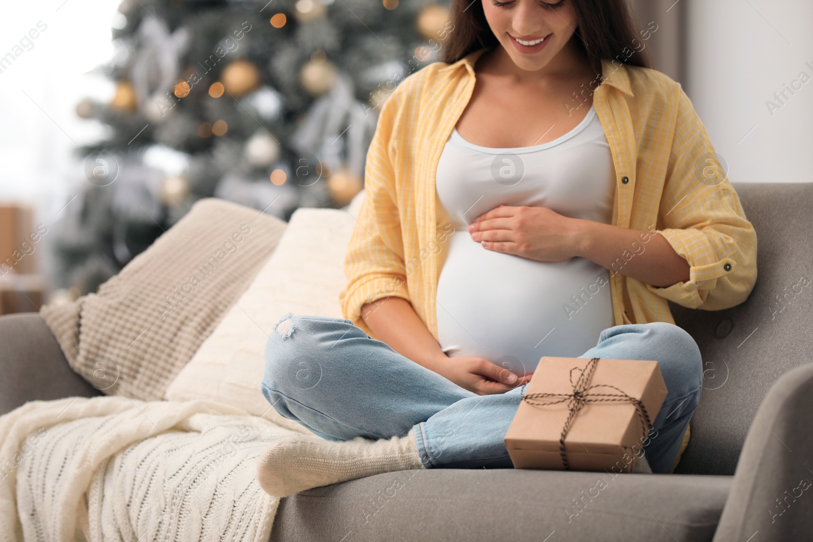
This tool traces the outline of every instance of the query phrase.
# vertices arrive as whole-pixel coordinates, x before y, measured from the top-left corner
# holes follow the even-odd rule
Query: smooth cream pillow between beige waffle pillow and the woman
[[[348,210],[293,213],[272,257],[167,388],[168,400],[219,401],[309,432],[276,414],[263,397],[265,345],[285,313],[342,318],[344,259],[360,202]]]

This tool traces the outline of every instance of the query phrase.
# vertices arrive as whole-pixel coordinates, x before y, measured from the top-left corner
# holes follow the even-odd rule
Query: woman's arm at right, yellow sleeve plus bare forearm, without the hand
[[[745,301],[756,280],[756,233],[682,89],[659,209],[643,232],[567,219],[576,254],[640,280],[679,305],[720,310]],[[633,257],[621,258],[622,254]]]

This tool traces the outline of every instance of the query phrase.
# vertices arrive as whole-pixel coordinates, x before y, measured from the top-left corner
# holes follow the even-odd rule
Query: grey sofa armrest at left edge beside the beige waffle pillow
[[[28,401],[102,395],[67,364],[38,313],[0,316],[0,375],[0,415]]]

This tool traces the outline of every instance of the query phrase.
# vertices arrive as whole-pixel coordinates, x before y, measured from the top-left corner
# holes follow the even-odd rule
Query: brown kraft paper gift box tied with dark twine
[[[543,357],[506,432],[511,462],[630,472],[666,395],[655,361]]]

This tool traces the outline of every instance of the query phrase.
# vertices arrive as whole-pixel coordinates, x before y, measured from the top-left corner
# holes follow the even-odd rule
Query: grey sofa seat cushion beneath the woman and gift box
[[[711,540],[732,479],[402,470],[280,501],[271,540]],[[554,533],[554,535],[551,535]]]

